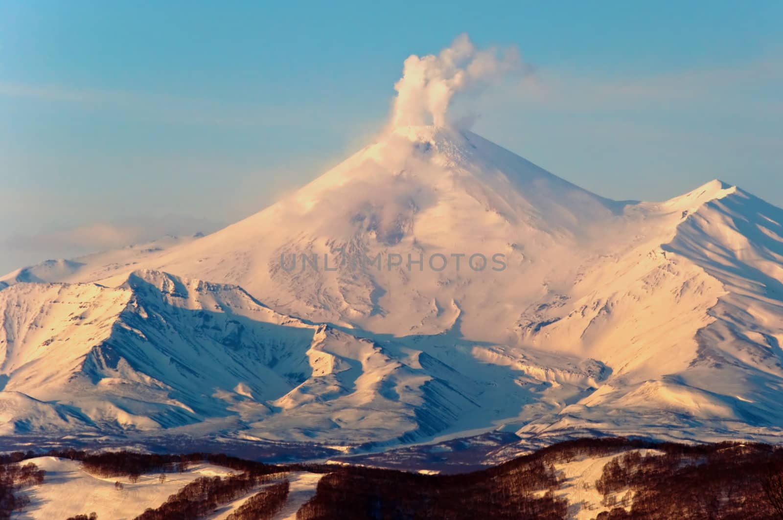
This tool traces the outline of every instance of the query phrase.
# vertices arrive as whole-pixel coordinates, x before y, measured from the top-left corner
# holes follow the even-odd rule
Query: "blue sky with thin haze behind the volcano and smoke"
[[[783,205],[783,2],[0,2],[0,271],[229,223],[359,150],[412,53],[532,70],[474,131],[615,199]]]

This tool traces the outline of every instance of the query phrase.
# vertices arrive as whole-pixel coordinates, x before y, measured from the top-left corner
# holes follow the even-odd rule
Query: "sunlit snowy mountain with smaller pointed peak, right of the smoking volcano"
[[[594,269],[575,287],[581,298],[521,334],[527,345],[601,359],[612,377],[522,432],[778,435],[783,211],[719,181],[639,209],[677,225],[632,251],[636,262]]]

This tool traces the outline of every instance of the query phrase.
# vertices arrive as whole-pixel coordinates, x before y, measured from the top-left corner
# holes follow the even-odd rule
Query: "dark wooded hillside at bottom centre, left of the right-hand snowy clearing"
[[[568,504],[550,492],[558,486],[557,473],[543,460],[463,475],[344,467],[321,478],[297,518],[560,520]]]

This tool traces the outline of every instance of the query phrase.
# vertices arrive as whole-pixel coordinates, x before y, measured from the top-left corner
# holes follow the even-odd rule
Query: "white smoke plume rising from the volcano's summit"
[[[395,84],[391,124],[444,126],[449,104],[458,92],[471,92],[502,78],[521,65],[516,49],[475,48],[467,34],[460,34],[438,56],[412,54]]]

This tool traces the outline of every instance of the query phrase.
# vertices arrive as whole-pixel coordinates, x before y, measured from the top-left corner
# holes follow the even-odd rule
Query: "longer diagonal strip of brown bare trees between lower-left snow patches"
[[[236,500],[255,486],[273,482],[275,475],[242,473],[228,477],[201,477],[168,497],[161,507],[147,509],[135,520],[193,520]]]

